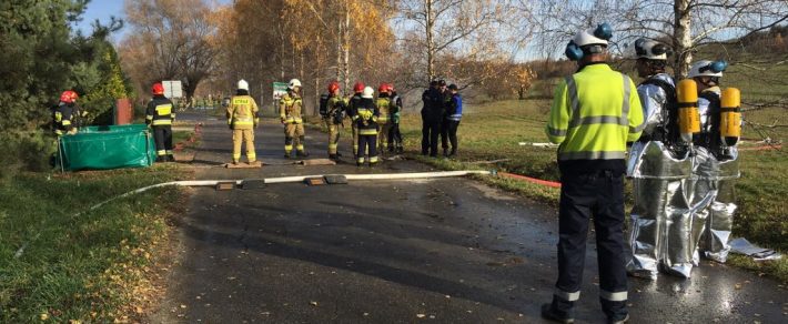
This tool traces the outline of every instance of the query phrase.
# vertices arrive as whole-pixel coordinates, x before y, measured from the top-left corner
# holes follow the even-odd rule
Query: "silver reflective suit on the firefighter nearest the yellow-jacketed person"
[[[675,87],[673,79],[659,73],[650,78]],[[696,241],[688,200],[693,161],[688,151],[677,152],[665,138],[654,136],[666,128],[668,98],[656,84],[638,85],[644,108],[644,138],[633,144],[627,175],[633,178],[635,205],[630,217],[627,271],[635,276],[656,279],[658,270],[689,277]],[[703,229],[703,227],[701,227]]]

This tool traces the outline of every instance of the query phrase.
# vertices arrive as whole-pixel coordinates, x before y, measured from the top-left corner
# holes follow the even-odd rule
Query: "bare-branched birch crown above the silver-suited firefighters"
[[[580,28],[600,22],[614,24],[618,54],[638,37],[666,41],[676,53],[674,71],[684,78],[694,52],[778,26],[788,20],[787,6],[788,0],[546,0],[535,17],[539,40],[555,50],[563,51]]]

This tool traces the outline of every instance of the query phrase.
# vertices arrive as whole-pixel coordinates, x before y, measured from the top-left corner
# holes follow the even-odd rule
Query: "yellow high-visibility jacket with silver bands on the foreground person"
[[[604,63],[566,77],[555,90],[547,138],[558,161],[623,160],[627,142],[640,138],[643,108],[635,83]]]

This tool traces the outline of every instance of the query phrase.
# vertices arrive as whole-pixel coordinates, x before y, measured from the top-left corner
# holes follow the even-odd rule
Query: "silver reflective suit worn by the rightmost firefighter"
[[[719,95],[719,88],[714,87],[708,92]],[[700,112],[701,133],[710,133],[711,136],[719,136],[714,133],[711,123],[716,119],[713,113],[719,113],[719,109],[710,108],[709,100],[698,98],[698,111]],[[721,142],[721,141],[720,141]],[[689,181],[691,213],[695,226],[693,239],[697,242],[695,262],[699,261],[699,255],[717,261],[726,262],[730,245],[730,232],[734,226],[734,213],[736,212],[736,200],[734,181],[740,176],[738,165],[738,150],[708,145],[698,145],[695,149],[695,161],[693,166],[693,178]]]

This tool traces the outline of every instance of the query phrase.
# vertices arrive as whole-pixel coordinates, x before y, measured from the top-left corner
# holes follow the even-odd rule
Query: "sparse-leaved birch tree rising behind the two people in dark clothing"
[[[446,53],[472,61],[507,60],[531,37],[531,8],[525,1],[493,0],[403,0],[398,2],[395,21],[401,27],[406,53],[422,64],[414,74],[416,84],[426,84],[451,69],[440,64]],[[519,6],[518,6],[519,4]],[[463,87],[482,82],[478,75]]]

